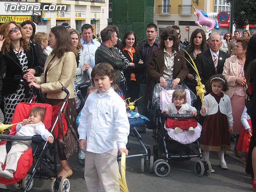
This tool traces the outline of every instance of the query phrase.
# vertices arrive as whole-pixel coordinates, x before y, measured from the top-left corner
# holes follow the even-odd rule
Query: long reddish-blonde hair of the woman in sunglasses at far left
[[[25,51],[28,51],[30,50],[30,45],[29,45],[29,42],[27,42],[27,38],[21,28],[21,26],[19,24],[17,24],[15,21],[8,21],[8,22],[5,22],[4,24],[2,24],[0,26],[0,34],[4,36],[4,43],[3,43],[3,46],[1,48],[3,54],[7,54],[8,52],[10,52],[10,47],[11,47],[11,40],[9,38],[9,26],[10,24],[14,24],[15,26],[18,26],[20,28],[20,34],[21,34],[21,38],[20,38],[20,46],[25,50]]]

